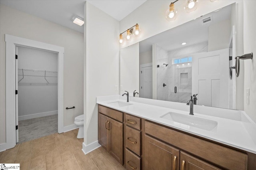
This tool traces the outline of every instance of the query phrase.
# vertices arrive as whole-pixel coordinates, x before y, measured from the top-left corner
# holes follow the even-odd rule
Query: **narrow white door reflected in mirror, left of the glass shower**
[[[152,64],[140,67],[140,97],[152,99]]]

